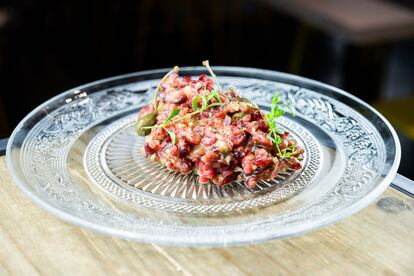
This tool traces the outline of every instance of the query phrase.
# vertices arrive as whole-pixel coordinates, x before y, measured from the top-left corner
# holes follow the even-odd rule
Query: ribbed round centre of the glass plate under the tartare
[[[144,139],[135,133],[135,117],[128,116],[101,131],[86,150],[85,166],[98,186],[143,207],[203,214],[275,204],[306,187],[322,162],[321,149],[315,138],[298,124],[282,118],[279,121],[281,127],[305,148],[302,170],[287,171],[274,180],[261,181],[254,189],[247,189],[240,182],[224,186],[200,184],[194,174],[171,172],[145,158],[142,152]],[[168,201],[166,204],[165,198],[184,201]]]

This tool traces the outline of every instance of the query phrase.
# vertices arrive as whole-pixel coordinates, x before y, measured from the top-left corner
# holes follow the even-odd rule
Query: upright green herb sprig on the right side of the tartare
[[[279,93],[276,93],[276,95],[272,98],[270,112],[265,114],[265,119],[269,125],[269,133],[267,134],[267,138],[272,141],[273,146],[277,151],[276,155],[280,159],[284,159],[291,157],[296,149],[293,145],[282,150],[279,148],[279,145],[283,142],[280,137],[280,134],[283,134],[283,131],[277,126],[276,119],[283,116],[286,112],[284,109],[280,108],[281,106],[286,107],[293,116],[295,115],[292,105],[282,102],[280,100]]]

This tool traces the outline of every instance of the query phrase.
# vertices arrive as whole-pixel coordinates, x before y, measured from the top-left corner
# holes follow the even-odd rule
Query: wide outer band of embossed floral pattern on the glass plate
[[[229,234],[228,238],[231,240],[232,233],[253,230],[264,233],[278,225],[311,222],[324,213],[340,210],[354,203],[355,199],[364,197],[375,184],[379,171],[385,164],[384,145],[375,128],[355,110],[316,92],[278,82],[241,77],[224,77],[220,81],[223,86],[235,86],[242,94],[265,107],[271,102],[274,92],[280,91],[285,101],[296,107],[297,116],[319,125],[343,146],[347,163],[341,181],[318,201],[288,210],[282,215],[215,227],[178,224],[120,213],[87,197],[72,182],[65,168],[65,157],[71,145],[85,130],[100,121],[147,103],[150,93],[139,94],[133,90],[151,92],[156,80],[120,86],[111,91],[73,99],[48,114],[31,129],[22,145],[21,164],[24,176],[42,200],[81,220],[110,227],[114,231],[127,230],[139,235],[158,233],[171,235],[172,239],[174,236],[195,237],[206,234],[206,240],[222,234]],[[248,200],[233,204],[244,204],[243,202]],[[153,203],[160,204],[160,200],[154,200]],[[169,203],[162,204],[163,208],[169,208]],[[196,208],[196,205],[189,206]],[[160,208],[159,205],[157,207]],[[198,211],[202,212],[203,208],[200,207]]]

